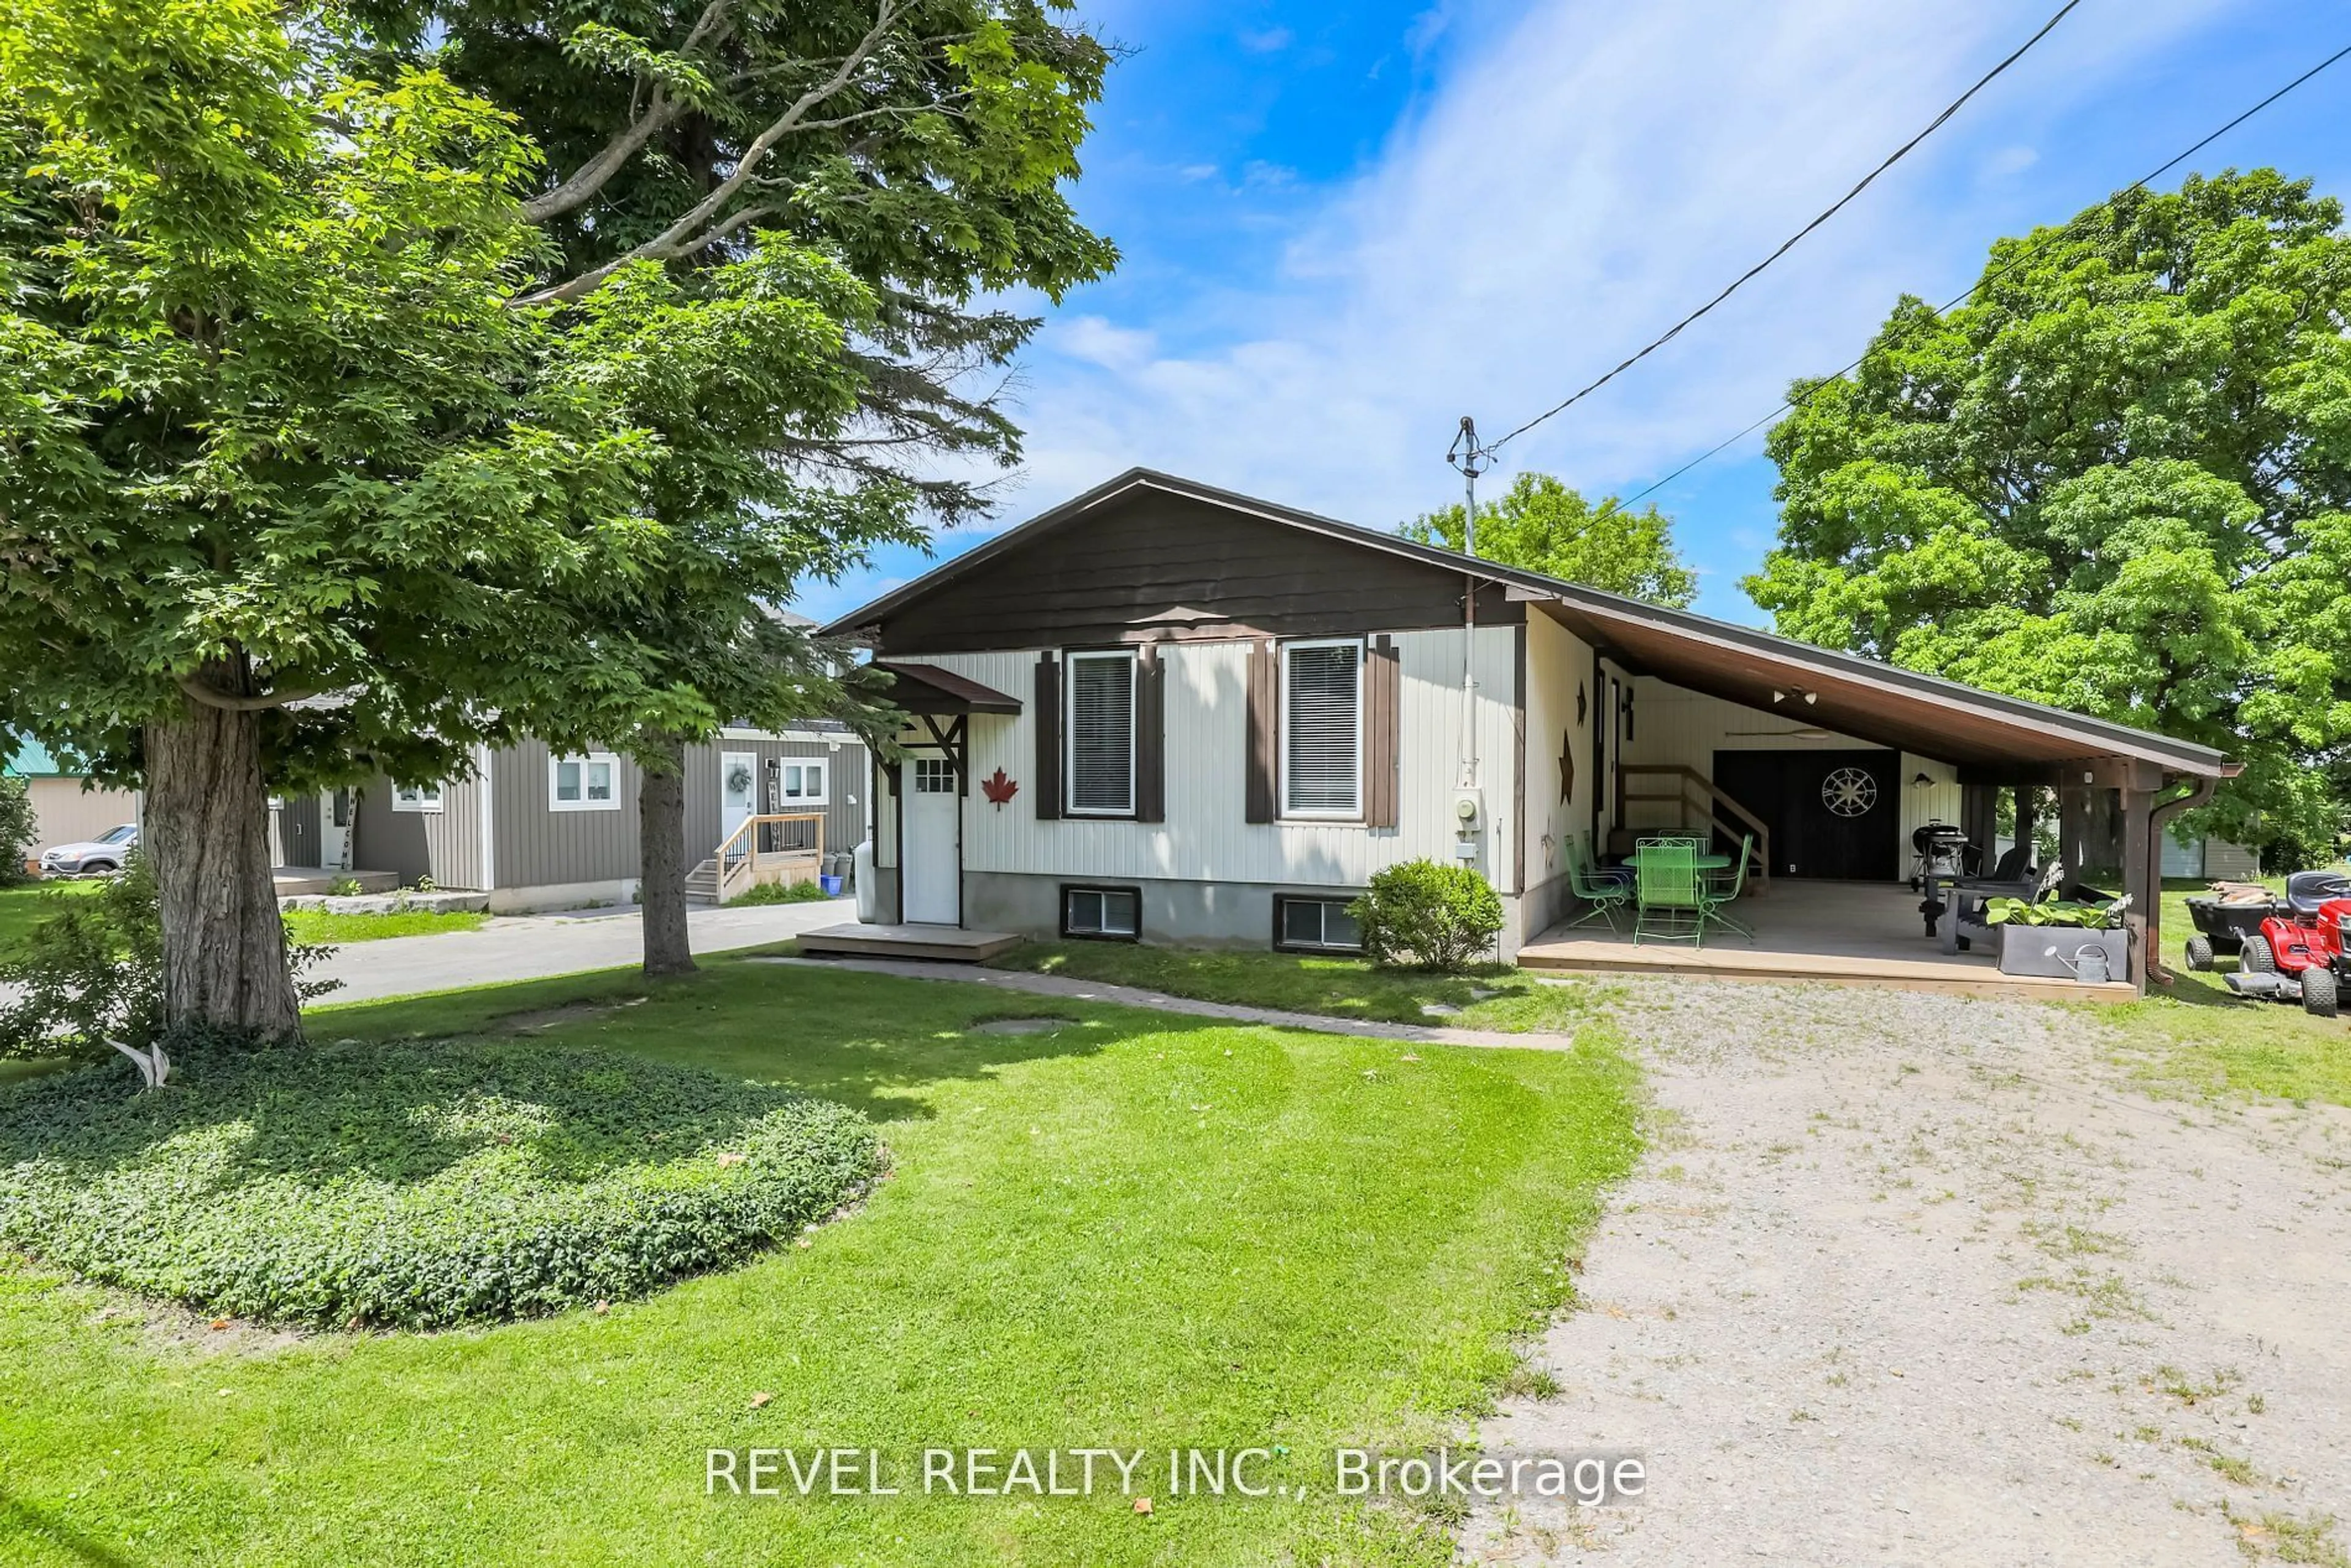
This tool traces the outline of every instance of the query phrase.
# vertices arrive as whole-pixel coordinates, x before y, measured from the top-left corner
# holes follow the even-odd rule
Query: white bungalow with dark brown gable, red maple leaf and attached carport
[[[1495,884],[1505,959],[1975,985],[1998,980],[1982,952],[1925,940],[1911,835],[1989,849],[1998,790],[2029,813],[2055,785],[2067,867],[2074,806],[2114,792],[2088,863],[2123,865],[2144,983],[2163,820],[2231,771],[1140,468],[825,630],[912,715],[875,762],[877,929],[1345,950],[1366,879],[1429,856]],[[1643,825],[1754,837],[1754,947],[1559,929],[1570,842],[1608,856]]]

